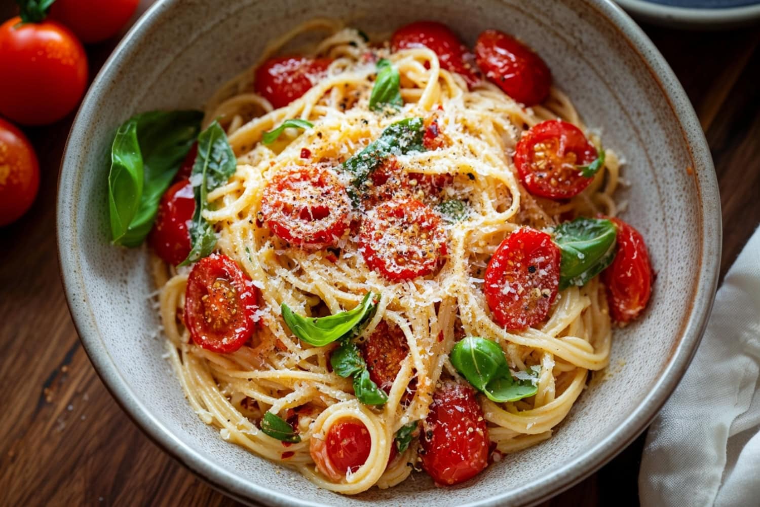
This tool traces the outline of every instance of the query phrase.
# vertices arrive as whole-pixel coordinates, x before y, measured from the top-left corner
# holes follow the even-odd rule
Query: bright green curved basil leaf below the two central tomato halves
[[[340,338],[353,337],[362,330],[377,310],[380,296],[368,292],[356,308],[328,317],[296,315],[287,304],[281,306],[283,320],[290,331],[307,344],[324,347]]]

